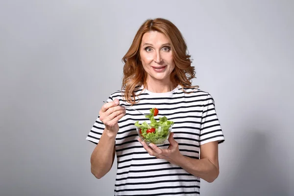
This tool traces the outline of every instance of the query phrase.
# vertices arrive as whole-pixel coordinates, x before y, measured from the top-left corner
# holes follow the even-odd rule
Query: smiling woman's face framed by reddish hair
[[[147,81],[169,82],[175,67],[170,40],[158,31],[149,31],[142,37],[140,58],[147,72]]]

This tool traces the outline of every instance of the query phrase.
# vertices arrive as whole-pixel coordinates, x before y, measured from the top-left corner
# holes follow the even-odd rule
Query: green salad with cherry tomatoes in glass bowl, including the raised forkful
[[[138,135],[146,144],[163,145],[169,139],[173,122],[165,116],[159,117],[157,122],[154,116],[158,115],[158,109],[151,108],[149,111],[150,114],[145,116],[150,120],[149,124],[146,121],[142,124],[139,121],[135,123]]]

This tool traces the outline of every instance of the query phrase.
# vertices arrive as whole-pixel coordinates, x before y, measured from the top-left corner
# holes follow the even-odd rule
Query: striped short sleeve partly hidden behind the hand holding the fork
[[[109,101],[112,101],[111,97],[107,99],[107,102]],[[102,123],[102,121],[100,121],[98,116],[89,134],[87,135],[86,140],[93,142],[94,144],[98,144],[104,128],[105,128],[105,125]]]

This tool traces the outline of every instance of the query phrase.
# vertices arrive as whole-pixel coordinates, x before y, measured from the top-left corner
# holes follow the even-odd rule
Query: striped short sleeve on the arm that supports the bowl
[[[219,144],[222,143],[224,141],[224,135],[216,113],[215,101],[212,96],[208,94],[204,101],[202,111],[199,145],[214,141],[218,141]]]

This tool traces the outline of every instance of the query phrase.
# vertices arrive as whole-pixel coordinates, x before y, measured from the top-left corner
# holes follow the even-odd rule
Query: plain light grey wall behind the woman
[[[0,196],[111,196],[85,137],[147,18],[171,20],[226,141],[203,196],[294,195],[292,0],[1,0]]]

